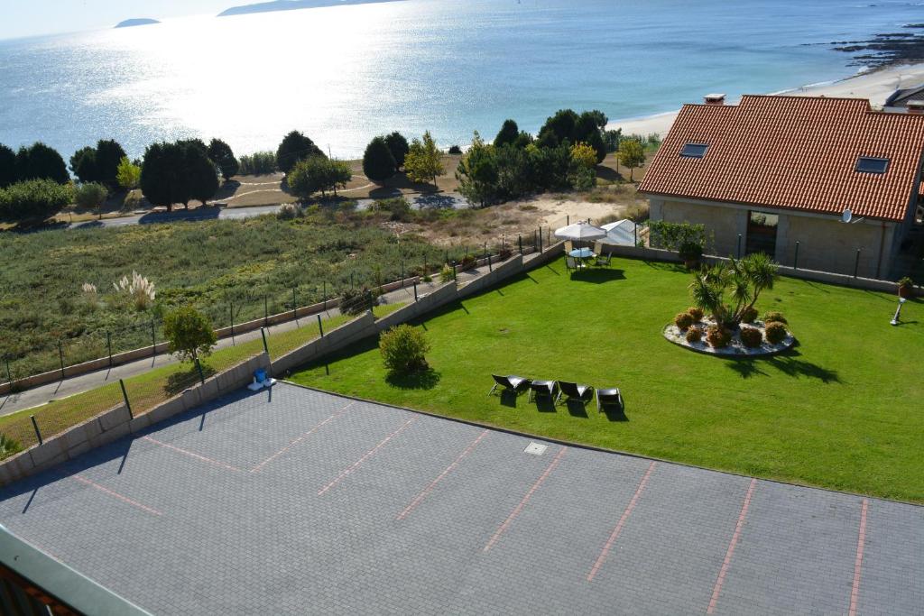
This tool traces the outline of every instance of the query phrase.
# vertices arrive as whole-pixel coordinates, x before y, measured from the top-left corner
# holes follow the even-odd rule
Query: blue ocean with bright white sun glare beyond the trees
[[[67,158],[219,137],[244,154],[298,129],[351,158],[429,129],[447,147],[565,107],[637,117],[845,78],[827,43],[921,21],[924,3],[883,0],[406,0],[6,40],[0,143]]]

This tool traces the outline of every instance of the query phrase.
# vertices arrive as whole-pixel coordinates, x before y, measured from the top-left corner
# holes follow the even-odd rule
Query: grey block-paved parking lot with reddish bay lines
[[[924,508],[285,383],[87,453],[0,499],[0,523],[157,614],[924,606]]]

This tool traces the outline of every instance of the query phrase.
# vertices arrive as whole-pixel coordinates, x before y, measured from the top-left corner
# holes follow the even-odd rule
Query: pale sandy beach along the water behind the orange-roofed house
[[[869,99],[874,107],[881,106],[892,92],[901,88],[913,88],[924,85],[924,64],[911,64],[890,66],[881,70],[871,71],[818,84],[801,86],[793,90],[767,92],[770,94],[784,94],[787,96],[830,96],[837,98]],[[707,92],[703,91],[703,94]],[[684,101],[682,103],[701,103],[697,101]],[[729,101],[734,104],[737,101]],[[679,111],[679,110],[678,110]],[[624,135],[648,135],[659,133],[664,135],[674,123],[677,112],[647,115],[645,117],[626,118],[610,122],[608,128],[622,128]]]

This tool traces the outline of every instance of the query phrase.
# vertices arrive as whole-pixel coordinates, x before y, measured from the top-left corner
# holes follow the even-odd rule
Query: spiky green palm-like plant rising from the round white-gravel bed
[[[731,259],[699,273],[690,283],[697,307],[725,327],[737,327],[764,289],[772,289],[778,266],[762,252]]]

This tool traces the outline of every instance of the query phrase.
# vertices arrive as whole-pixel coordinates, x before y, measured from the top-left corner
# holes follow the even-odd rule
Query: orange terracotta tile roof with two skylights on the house
[[[687,143],[708,143],[701,159]],[[742,97],[687,104],[639,192],[902,221],[918,185],[924,115],[874,112],[863,99]],[[857,158],[889,159],[884,174]]]

